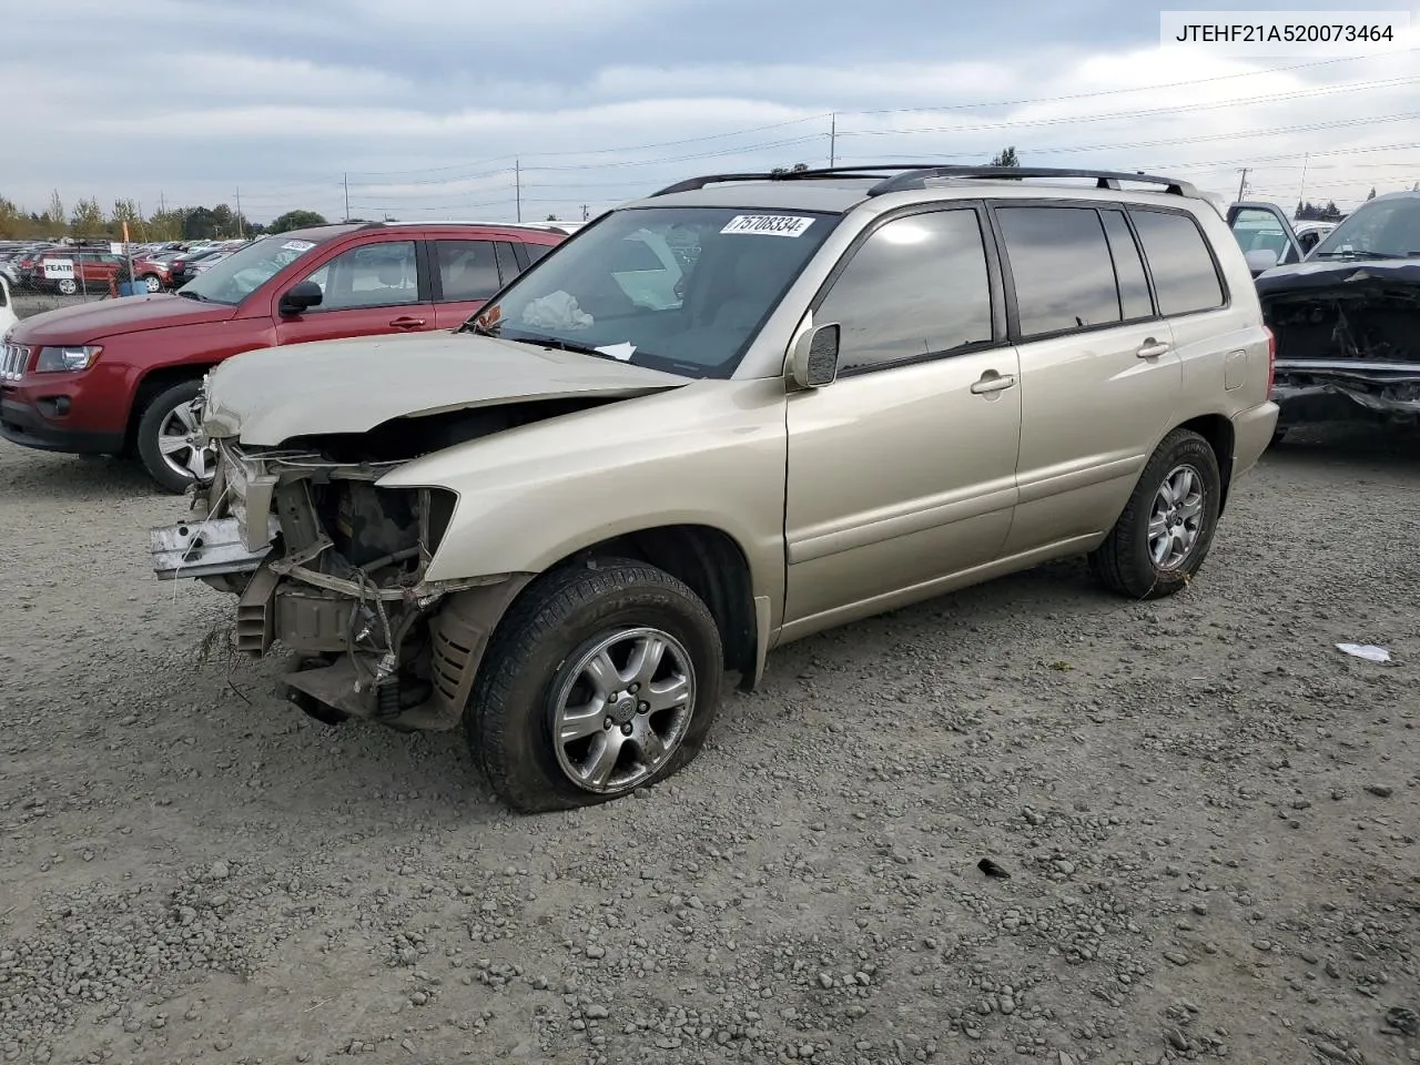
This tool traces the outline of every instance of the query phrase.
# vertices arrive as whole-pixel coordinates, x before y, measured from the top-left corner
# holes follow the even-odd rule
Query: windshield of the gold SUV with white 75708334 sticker
[[[619,210],[540,260],[464,328],[727,378],[836,222],[812,212]]]

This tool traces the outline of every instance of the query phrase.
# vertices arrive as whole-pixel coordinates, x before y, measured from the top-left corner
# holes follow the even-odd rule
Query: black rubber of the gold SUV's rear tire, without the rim
[[[1149,521],[1154,497],[1164,479],[1180,466],[1191,467],[1201,481],[1203,508],[1198,535],[1189,552],[1173,567],[1157,565],[1149,552]],[[1139,476],[1123,514],[1105,542],[1089,555],[1095,577],[1110,591],[1132,599],[1160,599],[1193,579],[1208,555],[1218,527],[1223,477],[1213,447],[1197,433],[1174,429],[1154,450]]]

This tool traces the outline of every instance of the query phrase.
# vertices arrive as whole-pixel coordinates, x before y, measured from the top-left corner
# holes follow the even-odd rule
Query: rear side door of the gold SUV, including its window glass
[[[1113,521],[1172,423],[1183,368],[1119,206],[1003,202],[994,214],[1021,358],[1020,501],[1004,548],[1017,555]]]

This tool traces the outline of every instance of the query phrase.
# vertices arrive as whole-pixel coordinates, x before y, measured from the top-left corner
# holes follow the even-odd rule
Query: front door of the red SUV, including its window
[[[426,260],[423,241],[415,237],[369,240],[341,251],[300,278],[320,285],[320,304],[287,315],[277,297],[277,344],[436,328]]]

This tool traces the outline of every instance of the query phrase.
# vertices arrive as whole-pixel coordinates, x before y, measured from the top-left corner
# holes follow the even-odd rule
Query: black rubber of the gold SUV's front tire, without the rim
[[[653,626],[684,648],[694,696],[683,738],[665,763],[615,794],[588,791],[558,764],[554,693],[575,657],[616,629]],[[474,683],[464,727],[498,798],[537,814],[588,807],[656,784],[687,765],[710,731],[724,680],[720,630],[682,581],[645,562],[611,558],[534,581],[500,622]]]

